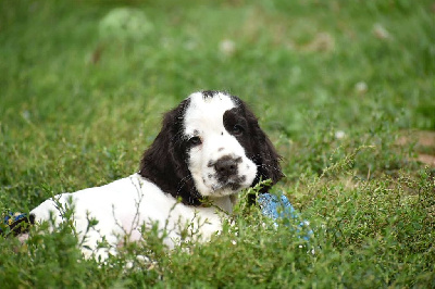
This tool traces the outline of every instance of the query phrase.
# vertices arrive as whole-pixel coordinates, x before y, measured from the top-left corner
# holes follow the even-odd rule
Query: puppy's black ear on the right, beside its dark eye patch
[[[252,111],[241,101],[240,105],[245,111],[246,118],[250,126],[251,138],[253,141],[252,155],[250,156],[257,164],[258,173],[252,185],[257,185],[260,180],[271,179],[272,184],[270,186],[264,186],[260,192],[266,192],[270,187],[276,184],[283,176],[281,169],[279,161],[281,156],[276,152],[272,141],[260,128],[258,120]]]

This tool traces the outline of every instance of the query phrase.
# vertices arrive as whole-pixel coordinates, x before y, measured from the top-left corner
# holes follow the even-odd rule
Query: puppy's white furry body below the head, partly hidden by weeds
[[[200,228],[200,234],[196,236],[200,241],[208,240],[213,233],[221,228],[220,210],[215,206],[192,208],[179,203],[138,174],[102,187],[54,197],[62,205],[69,203],[69,198],[72,198],[75,205],[74,225],[79,240],[86,233],[88,217],[98,219],[96,228],[86,235],[87,239],[82,248],[86,257],[89,257],[92,252],[96,252],[96,255],[101,256],[102,260],[108,256],[105,249],[96,251],[97,242],[101,240],[102,236],[111,244],[110,252],[112,254],[115,253],[114,249],[120,243],[121,237],[128,236],[130,241],[140,240],[142,224],[151,225],[157,222],[161,231],[166,229],[169,237],[164,242],[170,248],[179,241],[179,231],[187,224],[194,225],[192,231]],[[229,198],[216,200],[215,205],[222,206],[222,210],[227,212],[232,210]],[[53,216],[59,224],[62,221],[62,210],[58,209],[52,199],[42,202],[30,214],[35,214],[36,222],[40,223],[50,218],[50,212],[54,212]]]

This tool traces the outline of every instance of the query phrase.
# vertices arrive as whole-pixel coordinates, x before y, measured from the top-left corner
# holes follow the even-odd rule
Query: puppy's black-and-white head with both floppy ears
[[[187,204],[282,176],[278,154],[253,113],[219,91],[190,95],[167,112],[145,152],[140,175]],[[265,191],[268,188],[263,188]]]

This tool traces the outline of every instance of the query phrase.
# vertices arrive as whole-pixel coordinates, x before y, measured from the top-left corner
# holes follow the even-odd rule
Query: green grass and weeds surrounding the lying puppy
[[[126,7],[124,30],[104,24]],[[434,167],[417,161],[435,144],[413,137],[435,130],[433,27],[425,0],[1,1],[1,212],[135,172],[164,111],[220,89],[260,116],[284,156],[274,191],[315,235],[251,208],[190,253],[150,231],[99,265],[62,226],[1,238],[0,284],[435,287]],[[156,263],[126,268],[144,250]]]

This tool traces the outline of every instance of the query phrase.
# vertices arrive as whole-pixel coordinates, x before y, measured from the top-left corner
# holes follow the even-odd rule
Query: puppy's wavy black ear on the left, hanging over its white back
[[[164,192],[181,198],[184,203],[196,205],[200,204],[201,196],[196,190],[187,167],[183,139],[183,120],[188,101],[183,101],[164,115],[159,135],[144,153],[139,174]]]

